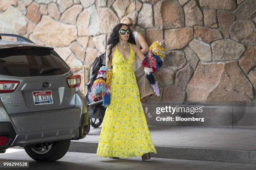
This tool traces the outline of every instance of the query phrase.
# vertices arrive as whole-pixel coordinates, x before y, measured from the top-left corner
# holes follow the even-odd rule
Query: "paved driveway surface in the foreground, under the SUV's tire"
[[[23,149],[9,148],[0,154],[4,160],[27,160],[30,168],[19,170],[255,170],[255,164],[222,163],[213,161],[178,160],[151,158],[142,161],[140,157],[113,160],[98,157],[93,153],[68,152],[63,158],[51,163],[39,163],[32,160]],[[17,168],[3,168],[17,170]]]

